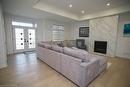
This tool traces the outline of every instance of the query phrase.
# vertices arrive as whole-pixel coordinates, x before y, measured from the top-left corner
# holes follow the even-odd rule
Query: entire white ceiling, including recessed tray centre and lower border
[[[3,8],[13,15],[68,22],[130,11],[130,0],[3,0]]]

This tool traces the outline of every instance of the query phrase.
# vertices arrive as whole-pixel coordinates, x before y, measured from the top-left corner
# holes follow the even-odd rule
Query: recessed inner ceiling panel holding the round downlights
[[[130,3],[130,0],[40,0],[39,2],[82,16],[82,10],[85,10],[86,14],[97,13],[126,5]],[[110,7],[106,7],[108,2],[111,3]],[[69,4],[72,4],[73,7],[69,8]]]

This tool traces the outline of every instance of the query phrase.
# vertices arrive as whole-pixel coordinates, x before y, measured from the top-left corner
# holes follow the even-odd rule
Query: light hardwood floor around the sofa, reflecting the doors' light
[[[130,60],[109,58],[112,65],[88,87],[130,87]],[[6,85],[6,86],[4,86]],[[8,56],[8,67],[0,69],[0,87],[78,87],[35,53]]]

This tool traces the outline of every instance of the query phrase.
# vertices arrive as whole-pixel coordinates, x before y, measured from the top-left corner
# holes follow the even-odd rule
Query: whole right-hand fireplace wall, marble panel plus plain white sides
[[[130,23],[130,12],[119,17],[109,16],[71,24],[71,39],[79,39],[79,27],[89,26],[90,37],[86,39],[89,52],[93,52],[94,40],[108,41],[108,56],[130,59],[130,37],[123,36],[124,24]],[[111,38],[111,39],[110,39]]]

